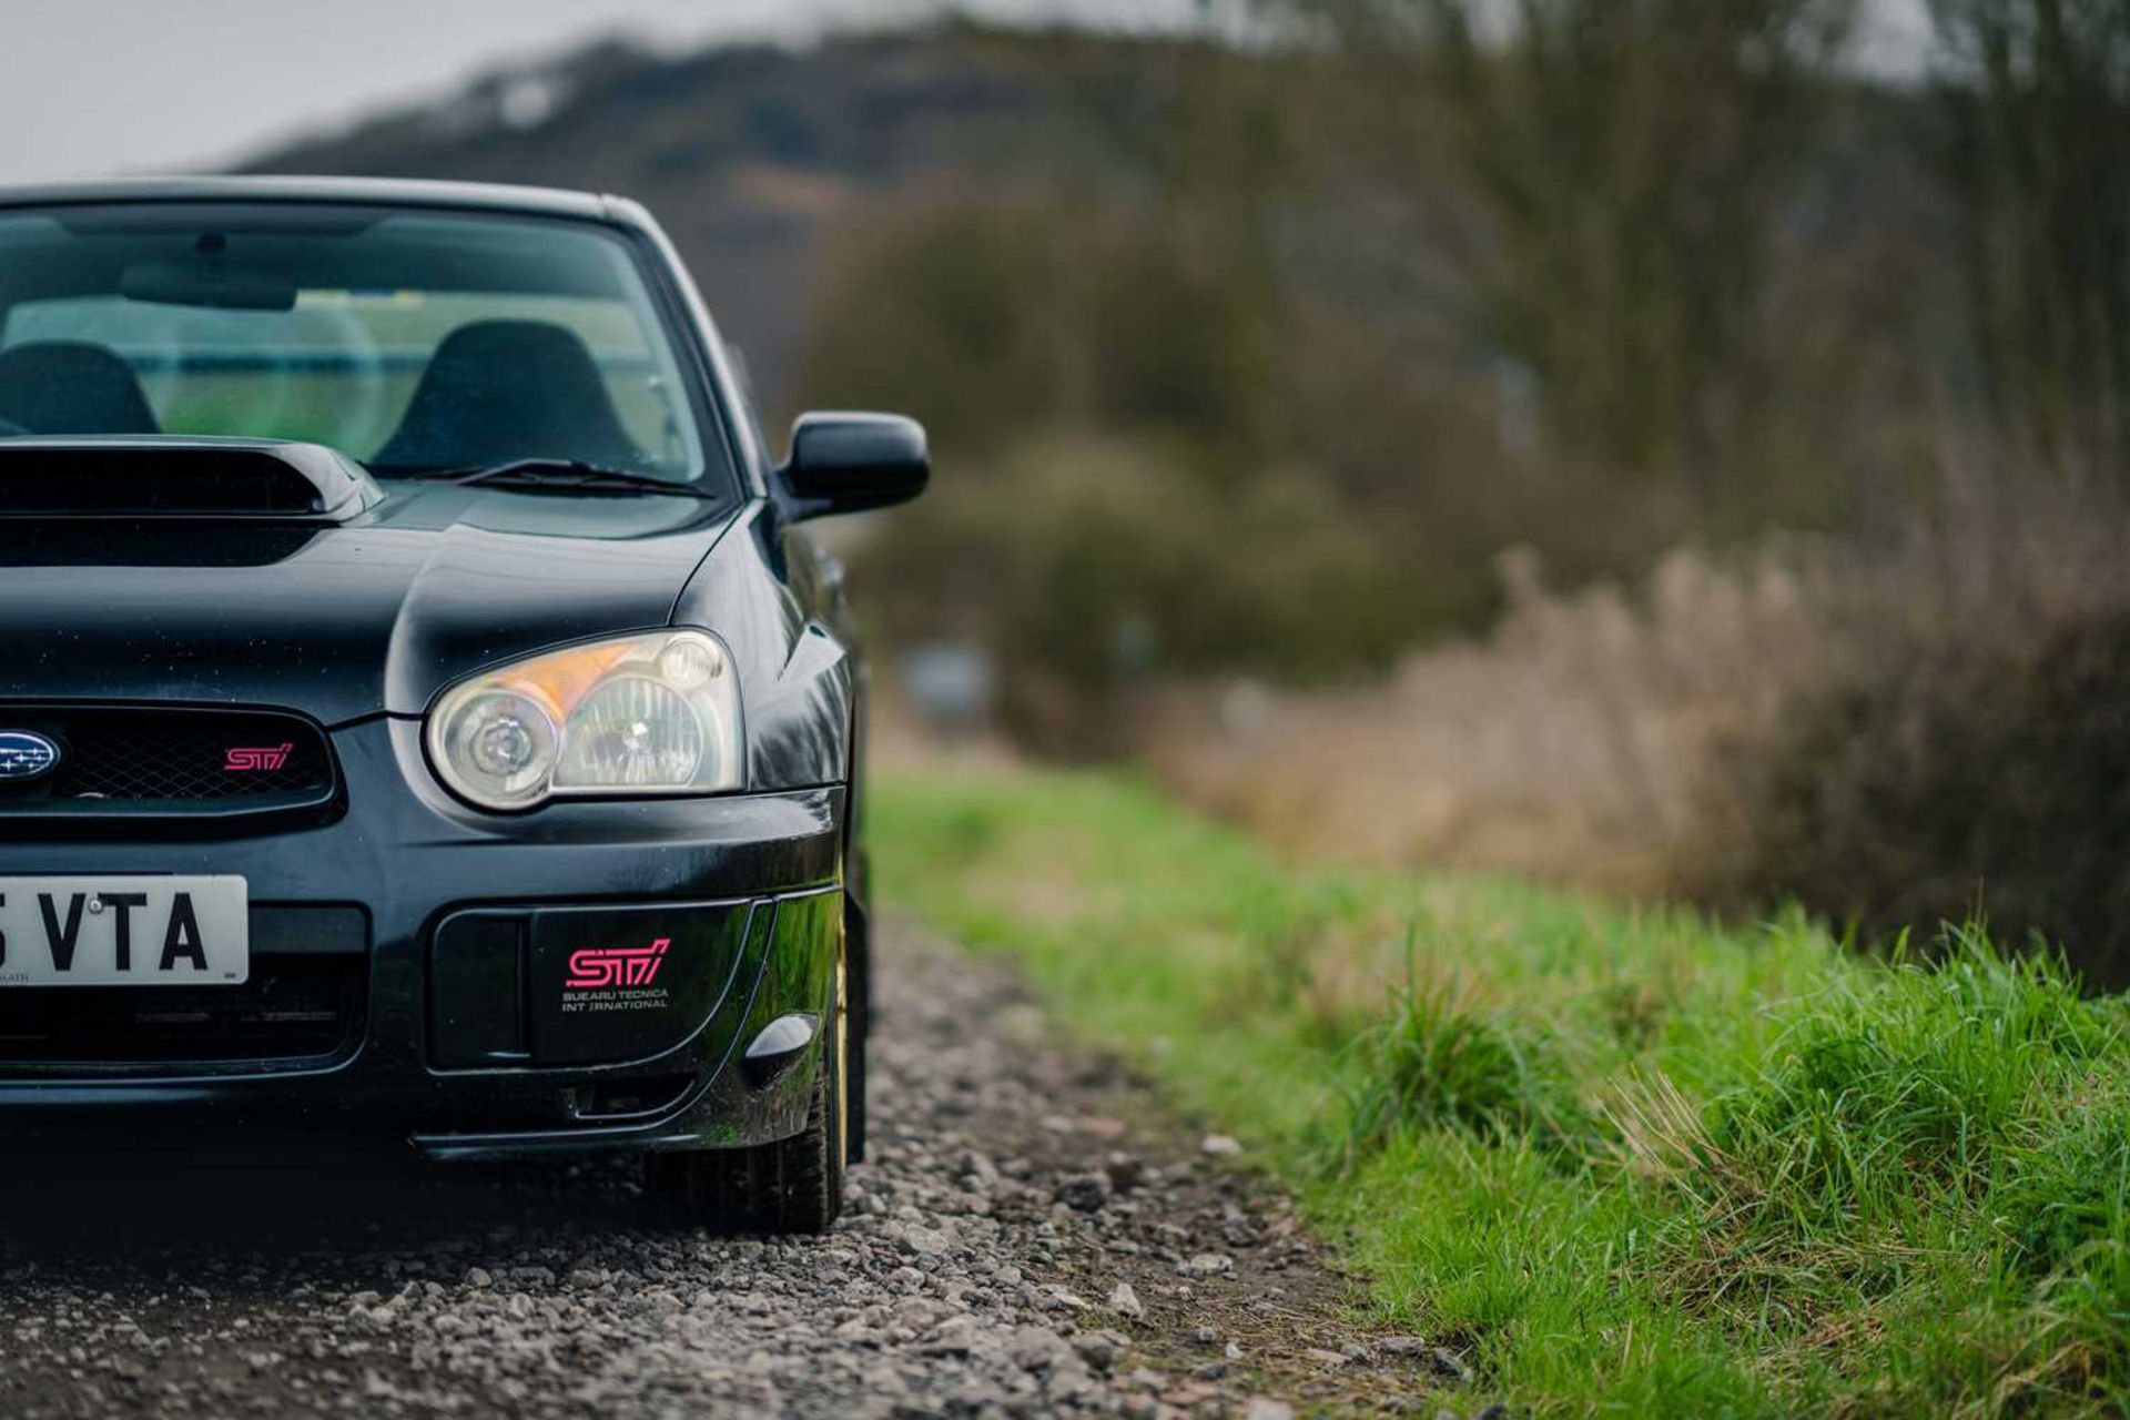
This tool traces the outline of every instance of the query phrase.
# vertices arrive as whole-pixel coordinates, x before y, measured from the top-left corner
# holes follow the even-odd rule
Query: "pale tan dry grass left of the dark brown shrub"
[[[1817,660],[1817,558],[1557,596],[1504,558],[1482,643],[1419,651],[1365,690],[1176,696],[1150,758],[1191,800],[1314,858],[1489,866],[1649,890],[1695,832],[1698,766],[1766,724]]]

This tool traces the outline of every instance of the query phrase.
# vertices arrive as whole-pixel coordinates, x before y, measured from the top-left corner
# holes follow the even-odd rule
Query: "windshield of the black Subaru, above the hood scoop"
[[[328,204],[0,213],[0,436],[294,439],[383,477],[705,473],[633,247],[590,224]]]

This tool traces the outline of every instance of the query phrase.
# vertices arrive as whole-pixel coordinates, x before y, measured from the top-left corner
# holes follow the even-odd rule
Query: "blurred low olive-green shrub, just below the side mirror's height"
[[[988,647],[1007,728],[1052,754],[1129,747],[1154,677],[1353,675],[1404,639],[1397,568],[1321,483],[1208,485],[1157,441],[1022,449],[856,558],[890,641]]]

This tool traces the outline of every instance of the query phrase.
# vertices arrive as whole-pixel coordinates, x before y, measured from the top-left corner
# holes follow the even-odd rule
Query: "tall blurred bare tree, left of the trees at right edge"
[[[1372,130],[1448,138],[1474,334],[1536,379],[1555,449],[1713,498],[1768,387],[1768,255],[1855,0],[1299,2],[1378,109],[1446,100],[1446,134]]]

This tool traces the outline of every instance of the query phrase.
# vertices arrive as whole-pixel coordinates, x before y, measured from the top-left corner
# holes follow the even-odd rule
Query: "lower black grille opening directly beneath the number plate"
[[[243,986],[0,990],[0,1073],[6,1064],[326,1060],[360,1035],[366,977],[364,956],[258,954]]]

